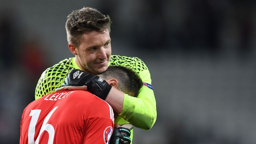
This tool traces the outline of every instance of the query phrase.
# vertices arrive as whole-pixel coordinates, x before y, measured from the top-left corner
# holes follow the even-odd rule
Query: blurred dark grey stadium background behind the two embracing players
[[[90,6],[113,21],[112,54],[151,72],[157,121],[134,144],[255,144],[255,2],[1,0],[0,143],[19,142],[41,73],[73,56],[67,15]]]

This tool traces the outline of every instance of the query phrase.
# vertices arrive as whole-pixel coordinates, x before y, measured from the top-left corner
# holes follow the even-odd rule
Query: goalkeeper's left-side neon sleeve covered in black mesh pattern
[[[65,81],[65,77],[73,68],[72,58],[62,60],[58,64],[47,68],[36,85],[35,99],[55,92],[55,89],[61,86]]]

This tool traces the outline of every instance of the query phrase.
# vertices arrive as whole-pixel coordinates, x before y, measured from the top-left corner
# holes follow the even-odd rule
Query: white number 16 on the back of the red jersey
[[[47,124],[47,122],[50,119],[50,117],[52,116],[53,112],[57,108],[58,107],[53,108],[52,111],[44,119],[43,125],[40,129],[40,132],[39,132],[39,135],[38,135],[36,141],[34,141],[35,129],[36,129],[36,123],[38,121],[41,110],[31,110],[30,111],[29,116],[32,116],[32,117],[31,117],[31,121],[30,121],[30,124],[29,124],[29,128],[28,128],[28,144],[38,144],[39,138],[40,138],[41,134],[43,133],[43,131],[47,131],[48,134],[49,134],[48,144],[53,143],[54,128],[51,124]]]

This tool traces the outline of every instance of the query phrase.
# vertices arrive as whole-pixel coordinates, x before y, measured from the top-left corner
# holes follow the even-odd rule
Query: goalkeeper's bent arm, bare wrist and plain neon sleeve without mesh
[[[139,73],[142,82],[151,84],[148,70]],[[156,121],[156,100],[154,92],[143,85],[138,97],[132,97],[112,88],[105,99],[112,108],[135,127],[150,130]]]

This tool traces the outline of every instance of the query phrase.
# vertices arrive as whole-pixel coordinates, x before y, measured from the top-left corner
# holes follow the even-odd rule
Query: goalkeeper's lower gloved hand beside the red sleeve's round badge
[[[132,124],[120,124],[115,125],[114,131],[110,138],[110,144],[130,144],[131,143],[131,132],[133,129]]]

